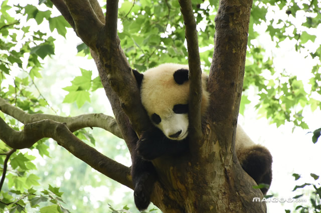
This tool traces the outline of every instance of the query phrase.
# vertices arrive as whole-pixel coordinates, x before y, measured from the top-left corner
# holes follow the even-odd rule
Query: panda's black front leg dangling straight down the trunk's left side
[[[134,201],[138,210],[144,210],[150,203],[157,175],[153,164],[134,152],[131,156],[131,177],[134,186]]]

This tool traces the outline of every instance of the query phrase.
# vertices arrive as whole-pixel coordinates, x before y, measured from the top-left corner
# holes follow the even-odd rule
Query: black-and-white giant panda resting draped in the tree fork
[[[134,200],[139,210],[147,208],[156,171],[149,160],[188,150],[188,65],[165,63],[146,70],[143,74],[133,70],[140,98],[153,126],[142,132],[132,155],[131,174]],[[202,73],[201,113],[206,114],[209,105],[208,75]],[[267,148],[255,144],[240,125],[236,129],[236,154],[243,169],[257,184],[270,185],[272,180],[272,156]],[[266,194],[268,188],[261,188]]]

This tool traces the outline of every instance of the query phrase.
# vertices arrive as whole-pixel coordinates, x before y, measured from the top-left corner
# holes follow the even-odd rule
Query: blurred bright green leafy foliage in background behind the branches
[[[51,1],[29,3],[16,0],[1,2],[0,97],[28,113],[46,112],[69,116],[91,111],[105,112],[104,105],[96,104],[103,95],[97,92],[101,87],[99,77],[94,77],[97,73],[81,68],[79,74],[76,74],[75,67],[60,67],[48,58],[55,58],[56,39],[67,37],[68,42],[67,31],[72,33],[68,23],[53,8]],[[105,2],[101,5],[105,9]],[[119,6],[118,35],[132,67],[142,71],[164,62],[187,63],[184,22],[177,0],[123,1]],[[218,0],[194,0],[193,7],[198,23],[201,62],[204,70],[208,71],[214,47],[214,18]],[[255,108],[261,116],[267,117],[277,126],[290,122],[293,129],[297,126],[309,129],[303,110],[319,110],[321,106],[321,42],[316,37],[317,32],[320,32],[320,7],[319,0],[253,2],[241,113],[245,105],[251,102],[249,90],[254,89],[258,98]],[[267,40],[262,42],[260,37]],[[310,66],[301,70],[307,78],[298,77],[289,65],[277,66],[276,52],[284,48],[284,41],[290,43],[297,54],[310,61]],[[273,48],[267,49],[264,42]],[[84,43],[78,44],[77,51],[79,56],[90,59],[89,49]],[[52,81],[63,85],[60,88],[67,91],[63,93],[66,94],[64,97],[56,89],[48,88],[48,85],[53,84]],[[16,130],[23,129],[19,121],[2,111],[0,116]],[[311,137],[315,143],[320,129],[307,131],[313,132]],[[75,134],[107,156],[130,165],[126,146],[120,139],[98,129],[82,129]],[[76,209],[77,212],[89,212],[92,209],[105,212],[107,202],[113,202],[112,196],[120,196],[117,191],[122,189],[116,190],[118,185],[76,159],[51,139],[43,139],[29,150],[12,150],[9,156],[10,150],[5,143],[0,142],[0,164],[3,170],[7,164],[6,158],[9,160],[6,179],[0,191],[0,212],[35,209],[40,212]],[[301,212],[307,212],[308,209],[319,212],[320,209],[320,203],[317,202],[320,198],[319,179],[316,174],[311,176],[315,183],[295,188],[299,190],[313,186],[311,204],[298,206]],[[104,189],[106,194],[99,194],[96,191],[98,188]],[[122,207],[126,203],[133,206],[131,192],[125,193],[120,200],[121,204],[116,207],[122,210],[111,207],[111,211],[127,211],[126,206]]]

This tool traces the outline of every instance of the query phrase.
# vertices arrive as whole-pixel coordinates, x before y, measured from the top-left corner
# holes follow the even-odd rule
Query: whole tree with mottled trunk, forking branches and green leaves
[[[2,15],[7,18],[7,22],[3,22],[2,27],[1,25],[0,27],[3,36],[10,35],[13,38],[14,35],[7,28],[15,26],[18,22],[13,18],[8,18],[6,2],[2,4]],[[319,64],[316,64],[312,70],[314,76],[311,77],[312,89],[310,94],[301,88],[301,82],[293,76],[286,76],[289,81],[284,84],[272,80],[266,85],[265,79],[260,73],[262,69],[266,68],[271,73],[274,72],[271,60],[263,59],[260,54],[260,47],[249,42],[248,57],[255,62],[246,65],[247,72],[245,74],[247,77],[243,86],[247,43],[248,40],[254,39],[256,35],[253,25],[251,24],[249,28],[248,24],[250,19],[256,24],[262,21],[269,4],[277,5],[282,9],[286,7],[288,8],[286,13],[292,15],[295,15],[298,10],[306,10],[316,14],[317,20],[320,18],[320,14],[317,12],[319,7],[317,2],[315,3],[313,0],[310,4],[302,5],[285,1],[262,1],[254,4],[250,17],[251,1],[230,2],[222,0],[219,6],[217,1],[210,2],[214,6],[203,8],[201,7],[203,1],[193,2],[192,4],[182,0],[178,4],[176,1],[151,2],[141,0],[139,1],[141,7],[135,1],[132,3],[126,1],[119,9],[123,31],[117,33],[118,1],[107,1],[105,16],[96,0],[52,0],[65,20],[85,43],[79,45],[79,50],[88,51],[86,45],[89,47],[97,65],[101,83],[112,105],[115,118],[103,114],[62,117],[35,113],[38,112],[39,106],[47,105],[46,101],[44,98],[31,97],[28,91],[22,89],[29,85],[29,77],[23,79],[16,77],[15,87],[9,86],[9,92],[1,90],[0,108],[5,114],[13,116],[24,123],[25,126],[22,130],[17,127],[14,129],[8,125],[10,119],[8,119],[8,123],[4,119],[0,119],[0,138],[13,148],[6,152],[7,157],[4,160],[4,165],[7,165],[10,155],[16,149],[36,146],[39,150],[42,150],[42,139],[51,137],[59,145],[99,172],[132,188],[130,169],[127,166],[104,156],[96,149],[85,144],[72,132],[88,126],[101,127],[122,137],[126,141],[129,152],[132,152],[135,148],[135,141],[138,139],[137,135],[147,129],[150,123],[140,103],[138,88],[131,74],[129,62],[138,70],[144,70],[147,66],[155,65],[155,58],[170,61],[170,58],[174,55],[173,58],[176,62],[186,63],[185,56],[188,53],[193,85],[191,90],[200,91],[201,62],[197,35],[199,34],[199,39],[203,45],[212,43],[212,39],[209,38],[214,35],[214,10],[217,11],[217,14],[215,16],[213,59],[208,60],[211,55],[209,51],[201,53],[204,65],[210,67],[209,91],[214,104],[209,109],[209,116],[202,120],[203,125],[201,125],[198,106],[199,92],[198,95],[191,93],[190,105],[193,105],[193,107],[190,108],[190,125],[192,127],[191,141],[193,143],[191,142],[191,149],[193,149],[193,155],[189,158],[182,157],[174,162],[164,158],[153,160],[159,181],[154,187],[152,201],[163,211],[221,212],[240,211],[240,209],[245,212],[266,211],[264,203],[252,202],[253,197],[261,197],[262,194],[258,189],[252,188],[255,185],[253,179],[240,167],[234,153],[233,141],[242,89],[247,89],[250,84],[255,84],[261,91],[259,95],[264,113],[273,117],[278,125],[288,120],[293,121],[295,125],[306,128],[307,126],[300,116],[300,111],[293,114],[291,107],[296,105],[297,101],[300,101],[301,105],[311,104],[313,108],[319,105],[313,98],[307,101],[306,96],[311,96],[312,91],[320,93],[318,88],[320,73],[318,71]],[[49,1],[41,1],[41,3],[52,7]],[[150,6],[149,3],[153,3],[153,5]],[[62,19],[62,16],[51,17],[50,12],[48,12],[50,10],[42,11],[32,5],[17,7],[17,11],[28,15],[28,19],[35,18],[38,24],[44,18],[48,19],[51,30],[56,28],[58,32],[65,33],[67,23]],[[179,7],[181,7],[182,15],[179,15]],[[148,18],[145,16],[148,16]],[[185,33],[183,32],[183,19]],[[308,15],[307,19],[309,20],[307,21],[309,27],[315,27],[315,24],[318,23]],[[287,37],[284,35],[285,29],[289,25],[293,25],[290,21],[279,20],[283,21],[283,28],[267,27],[270,35],[273,38],[274,36],[278,38],[277,43]],[[196,23],[202,21],[206,22],[206,30],[198,33]],[[144,27],[141,26],[142,23],[144,23]],[[169,23],[170,26],[174,27],[174,29],[171,29],[172,32],[166,30],[165,26],[168,26],[168,24],[164,23]],[[19,29],[28,31],[26,27]],[[138,36],[138,33],[141,32],[144,33],[143,37]],[[160,36],[162,32],[167,32],[168,35]],[[247,37],[248,32],[249,37]],[[171,39],[169,35],[174,39]],[[188,52],[184,49],[183,40],[185,36]],[[295,45],[298,50],[304,49],[303,44],[314,38],[306,31],[295,32],[293,37],[297,39]],[[40,62],[38,57],[44,58],[46,55],[54,53],[53,38],[46,37],[40,31],[36,31],[34,40],[25,42],[20,51],[11,48],[12,43],[16,42],[15,37],[10,41],[2,44],[3,46],[7,45],[7,48],[2,49],[8,50],[4,53],[7,58],[2,59],[2,76],[9,74],[15,64],[23,69],[21,58],[28,57],[24,53],[30,52],[27,58],[27,72],[32,80],[39,77]],[[32,42],[36,45],[32,45]],[[123,42],[121,46],[124,50],[120,47],[120,42]],[[133,48],[134,45],[136,45],[136,48]],[[153,48],[147,50],[148,47],[146,46]],[[180,48],[177,49],[178,47]],[[319,55],[319,51],[320,48],[311,51],[310,54],[312,57],[316,57]],[[82,74],[82,78],[75,78],[73,85],[66,88],[70,92],[69,97],[74,97],[74,99],[67,99],[66,101],[76,101],[78,105],[82,105],[88,99],[88,87],[97,85],[97,79],[94,79],[93,82],[91,79],[88,80],[86,70],[83,70]],[[19,92],[17,92],[17,89]],[[214,99],[215,101],[213,101]],[[14,124],[14,122],[11,124]],[[8,150],[8,146],[3,145],[3,149]],[[27,163],[32,157],[28,158],[19,153],[15,158]],[[210,158],[211,160],[209,160]],[[14,166],[15,164],[11,162],[11,165]],[[28,168],[27,165],[24,167],[22,164],[16,164],[16,167],[18,165],[21,168]],[[4,170],[6,170],[5,166]],[[37,179],[32,175],[26,178],[29,178],[30,181]],[[60,195],[59,191],[53,187],[50,187],[49,191],[58,197]],[[47,192],[49,193],[49,191]],[[29,195],[33,193],[30,189]],[[10,197],[7,198],[10,200]],[[39,197],[32,197],[35,205],[38,203],[36,198]],[[4,203],[8,204],[6,201]],[[23,203],[16,203],[18,203],[16,205],[18,210],[19,207],[24,206]]]

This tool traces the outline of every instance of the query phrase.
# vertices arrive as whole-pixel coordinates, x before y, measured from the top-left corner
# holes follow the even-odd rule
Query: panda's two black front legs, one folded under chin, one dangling
[[[131,176],[134,185],[135,205],[139,210],[146,209],[157,179],[152,159],[165,155],[179,155],[188,150],[188,138],[171,140],[155,126],[143,132],[136,143],[136,150],[131,156]]]

